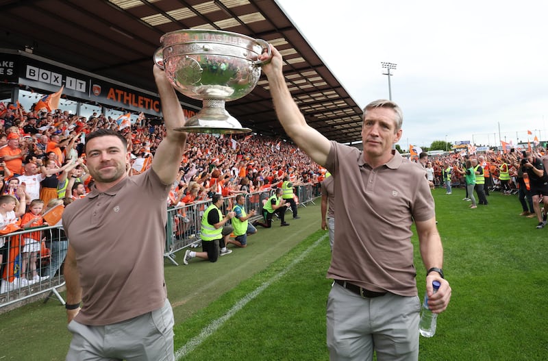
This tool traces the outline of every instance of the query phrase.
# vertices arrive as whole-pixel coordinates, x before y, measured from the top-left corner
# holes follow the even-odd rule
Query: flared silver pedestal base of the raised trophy
[[[251,132],[251,129],[242,127],[240,122],[225,110],[225,101],[220,99],[204,99],[203,108],[195,116],[187,119],[184,127],[173,130],[207,134]]]

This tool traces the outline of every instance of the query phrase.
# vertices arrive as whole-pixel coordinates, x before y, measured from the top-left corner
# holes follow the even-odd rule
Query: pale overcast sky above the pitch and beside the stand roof
[[[363,108],[397,64],[399,145],[548,140],[548,1],[277,0]]]

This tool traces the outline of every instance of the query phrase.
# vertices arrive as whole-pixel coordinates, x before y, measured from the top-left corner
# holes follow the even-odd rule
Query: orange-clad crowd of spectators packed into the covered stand
[[[34,191],[27,197],[28,203],[38,198],[48,203],[53,198],[85,195],[80,184],[88,191],[93,182],[86,172],[86,134],[105,128],[124,134],[131,145],[128,172],[136,175],[150,166],[166,133],[162,123],[152,123],[142,114],[131,127],[119,129],[115,119],[103,114],[86,118],[62,110],[25,112],[14,106],[6,107],[0,115],[0,126],[1,191],[10,191],[10,179],[25,177],[25,182],[18,183],[27,194],[31,188]],[[312,183],[317,187],[323,179],[317,164],[279,138],[190,134],[187,145],[167,206],[211,198],[215,192],[226,197],[240,190],[275,188],[284,177],[290,177],[294,185]],[[32,181],[34,184],[29,184]],[[79,188],[73,195],[75,184]]]

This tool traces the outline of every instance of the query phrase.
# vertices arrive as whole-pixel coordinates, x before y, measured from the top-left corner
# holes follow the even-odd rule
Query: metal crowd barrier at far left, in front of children
[[[61,268],[69,240],[66,239],[62,227],[34,227],[1,237],[4,238],[5,245],[2,247],[0,271],[0,308],[34,299],[41,294],[48,294],[45,302],[54,295],[64,304],[58,288],[65,283]],[[30,262],[23,262],[24,242],[27,238],[40,239],[40,251],[36,253],[36,279],[32,279],[33,275],[29,273]],[[27,256],[32,256],[32,253],[27,253]],[[29,257],[30,260],[32,258]]]

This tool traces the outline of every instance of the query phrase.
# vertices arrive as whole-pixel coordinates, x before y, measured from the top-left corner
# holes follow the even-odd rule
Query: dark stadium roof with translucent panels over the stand
[[[156,92],[152,56],[177,29],[218,29],[271,42],[308,124],[332,140],[361,140],[362,110],[275,0],[0,0],[2,47]],[[181,95],[187,103],[201,102]],[[287,138],[264,76],[251,94],[226,105],[254,131]]]

